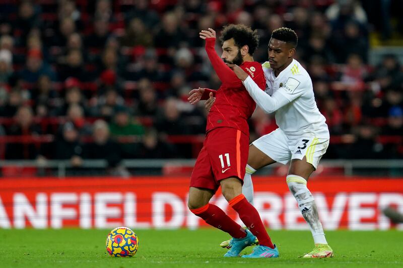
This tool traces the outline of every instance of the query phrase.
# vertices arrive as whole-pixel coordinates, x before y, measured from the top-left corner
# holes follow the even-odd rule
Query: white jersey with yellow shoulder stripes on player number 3
[[[276,123],[286,135],[291,138],[314,133],[318,138],[329,138],[326,119],[317,108],[312,80],[304,67],[293,59],[277,77],[268,61],[262,67],[266,76],[265,92],[270,96],[281,93],[289,101],[276,111]]]

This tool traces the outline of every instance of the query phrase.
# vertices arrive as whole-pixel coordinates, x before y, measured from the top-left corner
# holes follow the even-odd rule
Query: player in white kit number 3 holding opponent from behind
[[[329,145],[329,130],[316,106],[309,74],[293,58],[297,43],[293,30],[282,27],[273,31],[268,44],[268,61],[262,64],[265,92],[239,66],[230,65],[256,104],[266,113],[276,113],[279,126],[250,145],[242,192],[253,202],[251,175],[263,166],[291,161],[287,185],[309,224],[315,243],[315,248],[304,257],[332,257],[333,250],[327,244],[315,201],[307,188],[310,174]],[[209,110],[213,103],[211,97],[206,108]],[[221,246],[230,244],[225,241]]]

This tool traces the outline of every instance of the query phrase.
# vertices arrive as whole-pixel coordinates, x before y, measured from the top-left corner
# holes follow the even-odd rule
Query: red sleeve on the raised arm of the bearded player
[[[209,56],[210,62],[216,71],[218,78],[220,78],[223,84],[230,85],[241,85],[241,80],[236,76],[236,74],[228,67],[224,61],[217,55],[214,46],[216,44],[215,38],[206,39],[206,52]]]

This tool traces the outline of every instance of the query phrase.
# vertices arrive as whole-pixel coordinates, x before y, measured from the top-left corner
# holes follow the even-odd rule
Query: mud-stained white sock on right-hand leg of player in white
[[[245,176],[246,177],[246,176]],[[306,187],[306,181],[303,177],[298,175],[288,175],[287,185],[291,194],[298,202],[298,207],[304,217],[305,221],[311,228],[313,241],[315,244],[327,244],[324,237],[323,227],[319,221],[318,209],[311,192]]]

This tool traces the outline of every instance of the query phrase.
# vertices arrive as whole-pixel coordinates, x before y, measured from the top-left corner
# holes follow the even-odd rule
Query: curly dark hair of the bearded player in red
[[[243,24],[230,24],[223,28],[220,38],[221,44],[231,38],[234,38],[235,45],[239,48],[247,45],[250,55],[253,55],[253,52],[255,52],[256,47],[259,45],[257,31]]]

